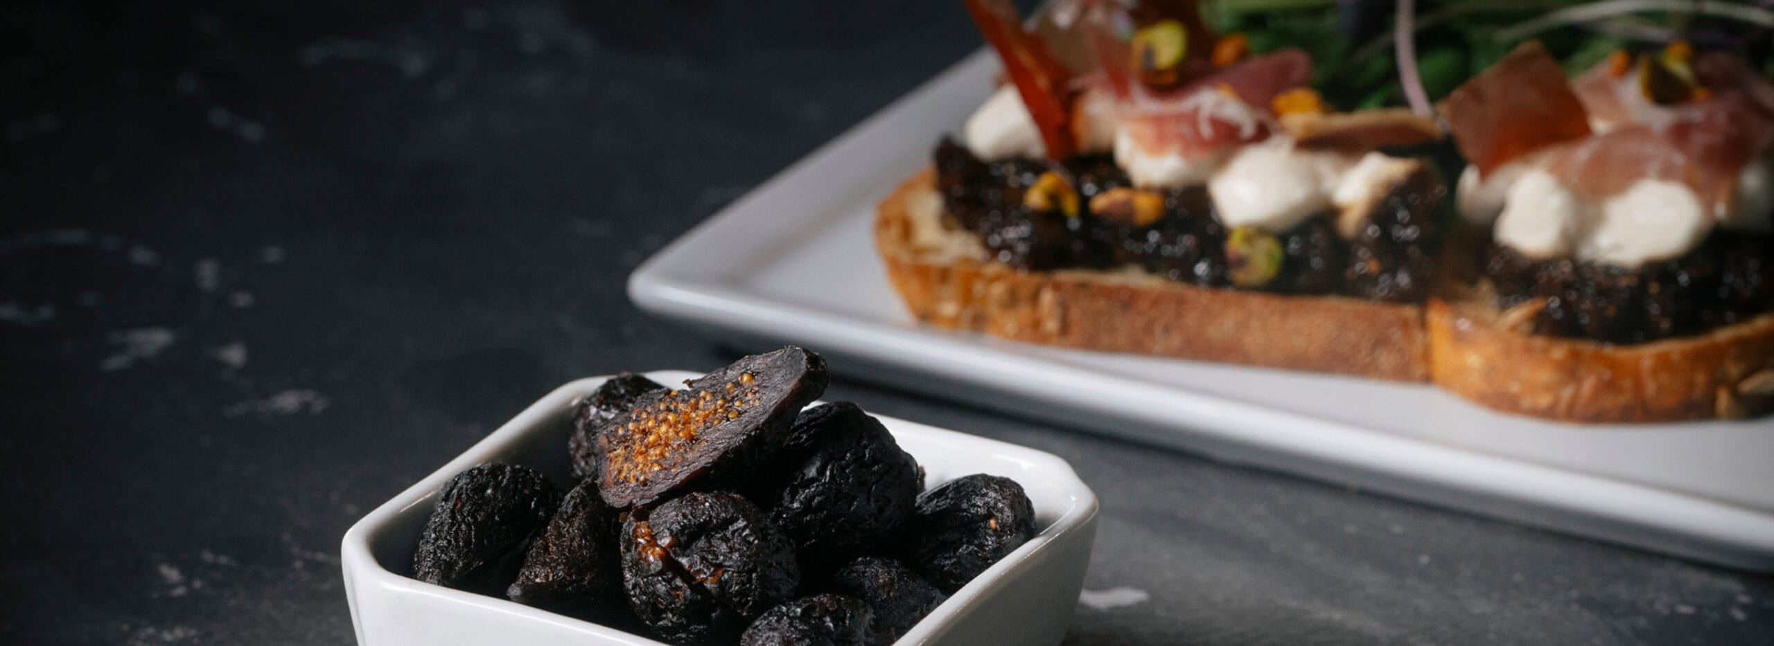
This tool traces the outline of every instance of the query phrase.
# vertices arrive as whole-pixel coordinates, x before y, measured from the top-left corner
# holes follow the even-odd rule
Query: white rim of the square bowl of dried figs
[[[644,374],[655,382],[665,383],[669,387],[679,387],[685,380],[697,378],[704,373],[679,371],[679,369],[662,369],[637,373]],[[344,573],[346,598],[351,605],[351,623],[357,632],[358,642],[364,642],[364,632],[360,626],[360,609],[357,600],[357,586],[374,586],[390,591],[401,591],[415,596],[429,596],[438,602],[449,603],[467,603],[479,607],[483,611],[493,611],[506,614],[516,621],[543,621],[552,623],[561,628],[569,628],[580,634],[603,637],[612,642],[621,644],[660,644],[648,635],[637,635],[614,626],[605,626],[594,621],[577,619],[564,614],[543,611],[538,607],[511,602],[500,596],[475,595],[452,587],[435,586],[422,582],[413,577],[392,571],[385,568],[374,555],[373,545],[383,538],[389,525],[404,515],[413,506],[433,504],[435,495],[444,490],[456,474],[483,465],[490,461],[498,461],[498,454],[504,449],[530,433],[545,428],[545,424],[559,415],[561,410],[568,408],[575,399],[591,392],[603,382],[614,378],[616,374],[587,376],[562,383],[545,394],[541,399],[525,406],[516,417],[500,424],[497,429],[488,433],[484,438],[470,445],[467,451],[456,458],[445,461],[436,470],[426,474],[412,486],[401,490],[387,502],[376,506],[344,532],[339,545],[341,570]],[[821,399],[823,401],[823,399]],[[809,405],[814,406],[820,401]],[[892,433],[898,437],[908,431],[908,437],[917,437],[919,440],[937,440],[938,444],[956,444],[967,453],[992,453],[999,458],[1009,458],[1024,463],[1025,469],[1041,474],[1043,481],[1056,488],[1064,497],[1070,497],[1070,508],[1063,509],[1057,518],[1048,522],[1036,532],[1032,540],[1018,547],[1015,552],[1004,555],[993,563],[986,571],[969,580],[967,586],[949,595],[935,611],[931,611],[924,619],[921,619],[912,630],[908,630],[894,644],[922,644],[935,637],[949,632],[960,619],[963,619],[974,607],[983,603],[992,595],[1004,587],[1004,580],[1009,573],[1024,570],[1041,561],[1041,555],[1050,552],[1050,547],[1059,536],[1075,532],[1082,527],[1093,527],[1091,520],[1096,518],[1098,500],[1096,493],[1086,484],[1071,465],[1040,449],[1031,449],[1018,444],[1009,444],[1002,440],[992,440],[977,435],[951,431],[937,426],[919,424],[898,417],[876,415]],[[928,488],[926,488],[928,490]],[[935,621],[931,621],[935,619]]]

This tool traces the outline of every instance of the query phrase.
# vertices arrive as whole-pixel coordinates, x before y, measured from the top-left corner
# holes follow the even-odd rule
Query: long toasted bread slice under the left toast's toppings
[[[942,217],[926,169],[875,218],[894,289],[922,321],[1052,346],[1398,382],[1428,378],[1423,307],[1210,289],[1137,270],[1020,272]]]

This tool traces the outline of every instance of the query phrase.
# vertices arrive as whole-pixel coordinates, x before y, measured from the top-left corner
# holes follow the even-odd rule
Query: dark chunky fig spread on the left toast
[[[1054,170],[1041,160],[988,163],[944,138],[935,162],[944,211],[977,236],[993,261],[1036,272],[1134,264],[1176,282],[1235,288],[1226,254],[1229,231],[1213,217],[1213,201],[1203,186],[1162,192],[1164,215],[1130,224],[1091,213],[1087,206],[1068,217],[1024,204],[1036,179]],[[1080,204],[1132,186],[1109,154],[1066,158],[1063,170],[1082,197]],[[1421,302],[1440,245],[1435,217],[1442,195],[1433,176],[1412,176],[1375,206],[1355,240],[1338,236],[1334,213],[1313,215],[1276,234],[1283,256],[1274,279],[1238,289]]]

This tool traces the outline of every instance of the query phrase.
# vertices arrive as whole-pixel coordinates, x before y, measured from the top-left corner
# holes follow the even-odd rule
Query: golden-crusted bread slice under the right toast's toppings
[[[1432,380],[1480,405],[1572,422],[1749,417],[1774,408],[1774,314],[1616,346],[1527,334],[1543,302],[1497,311],[1485,280],[1444,286],[1444,295],[1428,303]]]

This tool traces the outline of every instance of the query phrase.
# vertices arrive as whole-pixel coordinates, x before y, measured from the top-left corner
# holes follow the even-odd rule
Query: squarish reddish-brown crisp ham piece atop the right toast
[[[1558,60],[1524,43],[1439,105],[1467,162],[1488,174],[1536,149],[1590,135],[1590,119]]]

